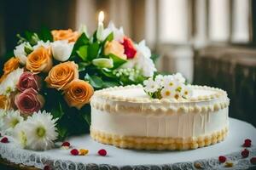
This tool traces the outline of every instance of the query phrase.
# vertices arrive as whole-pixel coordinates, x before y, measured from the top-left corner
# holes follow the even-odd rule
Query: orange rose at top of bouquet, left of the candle
[[[51,35],[54,38],[54,41],[58,40],[67,40],[68,42],[76,42],[79,38],[78,31],[68,30],[53,30],[51,31]]]

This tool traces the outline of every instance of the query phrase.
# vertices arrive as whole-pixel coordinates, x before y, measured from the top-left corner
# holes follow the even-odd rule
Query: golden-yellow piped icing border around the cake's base
[[[154,138],[131,137],[104,133],[90,128],[90,136],[102,144],[112,144],[120,148],[137,150],[191,150],[210,144],[216,144],[227,136],[228,127],[200,137],[183,138]]]

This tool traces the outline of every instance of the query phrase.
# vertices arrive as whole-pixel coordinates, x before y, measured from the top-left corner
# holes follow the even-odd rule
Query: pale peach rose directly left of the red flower
[[[104,47],[104,54],[114,54],[121,59],[126,59],[125,48],[119,42],[113,40],[112,42],[106,42]]]

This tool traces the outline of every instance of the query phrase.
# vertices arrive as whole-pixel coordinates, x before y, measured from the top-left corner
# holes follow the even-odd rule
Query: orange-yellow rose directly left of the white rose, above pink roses
[[[41,46],[27,56],[26,69],[34,73],[48,72],[52,67],[50,48]]]

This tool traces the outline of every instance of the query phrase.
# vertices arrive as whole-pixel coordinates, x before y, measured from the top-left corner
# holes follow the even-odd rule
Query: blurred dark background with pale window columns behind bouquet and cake
[[[256,1],[253,0],[1,0],[0,56],[26,30],[96,29],[113,20],[156,54],[159,71],[226,90],[230,116],[256,126]],[[3,57],[2,57],[3,58]],[[1,60],[1,57],[0,57]],[[1,60],[3,65],[3,60]]]

